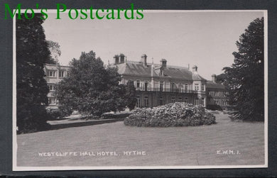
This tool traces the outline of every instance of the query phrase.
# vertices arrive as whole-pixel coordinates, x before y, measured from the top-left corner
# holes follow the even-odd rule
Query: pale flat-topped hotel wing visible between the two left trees
[[[45,65],[44,72],[46,74],[45,80],[48,84],[49,93],[48,93],[48,108],[57,109],[58,101],[55,96],[55,87],[64,77],[69,73],[70,67],[60,66],[60,65]]]

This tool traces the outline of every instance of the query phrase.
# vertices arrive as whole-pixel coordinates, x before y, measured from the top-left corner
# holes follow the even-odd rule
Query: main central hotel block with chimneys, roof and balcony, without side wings
[[[165,59],[160,65],[147,62],[147,55],[141,61],[127,61],[124,55],[114,56],[114,63],[121,74],[121,84],[133,81],[136,88],[136,107],[154,107],[174,102],[206,105],[207,80],[197,72],[197,66],[173,67]]]

